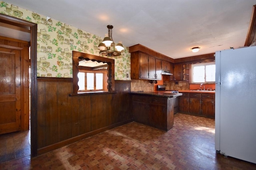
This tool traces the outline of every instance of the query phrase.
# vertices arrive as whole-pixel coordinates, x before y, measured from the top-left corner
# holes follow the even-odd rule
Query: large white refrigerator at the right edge
[[[216,51],[215,149],[256,163],[256,46]]]

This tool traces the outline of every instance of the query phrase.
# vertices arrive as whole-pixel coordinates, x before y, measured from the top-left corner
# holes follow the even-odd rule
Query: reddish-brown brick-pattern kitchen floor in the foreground
[[[0,169],[256,170],[256,164],[216,153],[214,131],[214,119],[177,113],[168,132],[132,122]]]

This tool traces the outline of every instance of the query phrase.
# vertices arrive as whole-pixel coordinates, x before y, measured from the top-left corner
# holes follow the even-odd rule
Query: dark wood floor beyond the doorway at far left
[[[30,155],[30,130],[0,135],[0,163]]]

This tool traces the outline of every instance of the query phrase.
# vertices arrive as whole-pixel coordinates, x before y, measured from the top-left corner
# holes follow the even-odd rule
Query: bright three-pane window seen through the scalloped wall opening
[[[78,72],[78,91],[105,91],[106,71],[86,71]]]

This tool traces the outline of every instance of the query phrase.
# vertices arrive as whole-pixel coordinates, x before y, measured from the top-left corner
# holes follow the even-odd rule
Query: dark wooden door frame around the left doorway
[[[0,14],[0,22],[30,29],[30,133],[31,157],[37,156],[37,24],[5,14]]]

